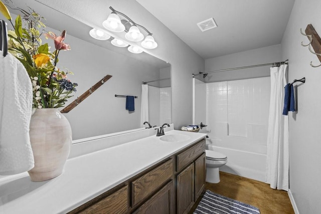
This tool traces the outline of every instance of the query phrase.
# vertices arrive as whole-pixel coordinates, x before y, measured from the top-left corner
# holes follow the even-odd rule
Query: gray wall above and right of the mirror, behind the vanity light
[[[204,60],[136,1],[97,0],[95,4],[77,0],[39,2],[96,28],[101,28],[101,23],[111,12],[108,8],[112,6],[147,28],[153,33],[158,47],[146,53],[172,65],[172,121],[175,128],[192,123],[192,74],[204,71]]]

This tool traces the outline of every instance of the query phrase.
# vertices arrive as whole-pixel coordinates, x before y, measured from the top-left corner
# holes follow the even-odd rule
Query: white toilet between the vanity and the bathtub
[[[227,163],[227,156],[225,154],[205,150],[206,152],[206,182],[219,183],[220,171],[219,167]]]

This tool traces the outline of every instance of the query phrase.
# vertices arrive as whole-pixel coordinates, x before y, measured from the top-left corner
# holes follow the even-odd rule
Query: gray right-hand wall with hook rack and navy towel
[[[297,92],[297,111],[289,114],[290,130],[290,191],[300,213],[319,213],[321,191],[321,67],[312,68],[313,61],[319,65],[317,57],[307,47],[304,32],[312,24],[321,36],[321,1],[296,0],[284,33],[281,49],[282,58],[289,59],[288,78],[306,78],[305,84],[294,84]]]

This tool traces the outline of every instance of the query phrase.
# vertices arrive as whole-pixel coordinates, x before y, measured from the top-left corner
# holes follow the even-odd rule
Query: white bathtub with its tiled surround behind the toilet
[[[228,157],[220,170],[264,182],[270,77],[205,85],[196,96],[206,102],[209,149]]]

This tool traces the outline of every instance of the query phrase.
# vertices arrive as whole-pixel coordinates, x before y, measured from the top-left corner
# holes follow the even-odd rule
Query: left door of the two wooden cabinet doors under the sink
[[[194,163],[177,175],[177,212],[187,213],[194,204]]]

